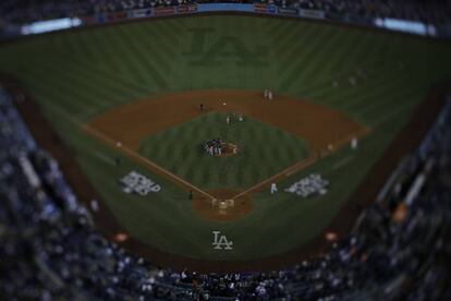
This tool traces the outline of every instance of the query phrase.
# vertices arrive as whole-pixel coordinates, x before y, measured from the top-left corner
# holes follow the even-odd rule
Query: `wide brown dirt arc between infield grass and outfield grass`
[[[314,152],[364,129],[344,113],[294,97],[275,95],[273,100],[267,100],[258,91],[217,89],[167,94],[123,105],[98,116],[88,127],[137,150],[143,139],[198,117],[200,104],[204,112],[242,113],[272,124],[305,139]]]

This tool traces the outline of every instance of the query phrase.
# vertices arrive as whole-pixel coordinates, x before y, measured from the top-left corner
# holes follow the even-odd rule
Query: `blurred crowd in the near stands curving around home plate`
[[[4,300],[451,299],[451,98],[348,237],[271,273],[162,269],[105,239],[1,87],[0,149]]]

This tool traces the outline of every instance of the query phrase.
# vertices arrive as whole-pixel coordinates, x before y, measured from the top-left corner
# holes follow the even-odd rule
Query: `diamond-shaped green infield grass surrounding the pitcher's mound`
[[[244,117],[226,123],[226,113],[208,113],[146,139],[139,153],[202,189],[244,189],[308,156],[305,141]],[[220,137],[239,146],[230,157],[208,155],[200,146]],[[263,164],[264,162],[264,164]]]

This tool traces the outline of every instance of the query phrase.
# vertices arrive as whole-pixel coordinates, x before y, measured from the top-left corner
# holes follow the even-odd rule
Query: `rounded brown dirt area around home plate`
[[[230,221],[242,218],[252,212],[253,204],[248,195],[233,198],[235,191],[218,189],[208,191],[215,200],[198,196],[193,200],[193,209],[204,218],[214,221]]]

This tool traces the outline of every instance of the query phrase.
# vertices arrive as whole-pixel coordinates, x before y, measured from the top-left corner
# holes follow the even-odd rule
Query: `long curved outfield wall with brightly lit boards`
[[[64,17],[58,20],[38,21],[23,25],[9,25],[5,29],[3,29],[3,33],[0,33],[0,38],[9,39],[24,35],[44,34],[49,32],[76,28],[81,26],[94,26],[139,19],[217,12],[249,13],[308,20],[322,20],[328,22],[367,26],[418,36],[427,36],[432,38],[451,38],[450,24],[436,25],[417,21],[399,20],[391,17],[375,19],[356,16],[351,14],[339,15],[322,10],[281,8],[275,4],[263,3],[193,3],[178,7],[146,8],[121,12],[98,13],[95,15],[80,17]]]

